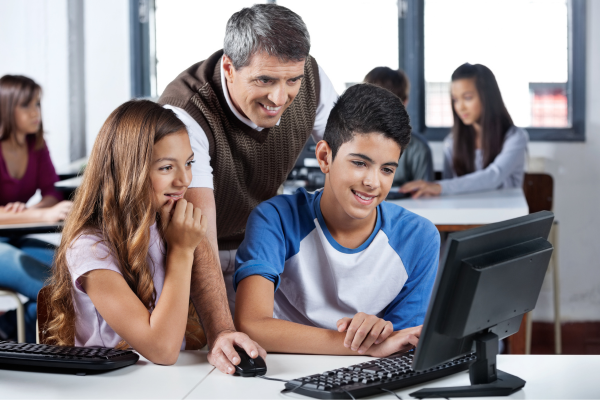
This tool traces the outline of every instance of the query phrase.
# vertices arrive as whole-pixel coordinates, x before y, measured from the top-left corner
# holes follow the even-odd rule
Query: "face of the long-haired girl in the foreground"
[[[154,144],[150,182],[156,210],[169,199],[177,201],[183,198],[192,182],[193,162],[194,153],[185,129],[165,136]]]

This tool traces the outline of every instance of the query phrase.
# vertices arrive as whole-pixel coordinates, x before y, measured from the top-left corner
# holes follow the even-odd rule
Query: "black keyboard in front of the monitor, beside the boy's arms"
[[[317,399],[349,399],[386,393],[469,369],[475,353],[421,372],[412,368],[414,350],[305,376],[285,384],[288,391]],[[350,394],[350,395],[349,395]]]

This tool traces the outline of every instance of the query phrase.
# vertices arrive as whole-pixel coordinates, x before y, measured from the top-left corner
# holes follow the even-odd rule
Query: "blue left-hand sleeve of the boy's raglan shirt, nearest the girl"
[[[286,241],[283,224],[276,207],[268,202],[256,207],[246,224],[244,241],[235,257],[234,289],[245,278],[260,275],[279,287],[283,272]]]

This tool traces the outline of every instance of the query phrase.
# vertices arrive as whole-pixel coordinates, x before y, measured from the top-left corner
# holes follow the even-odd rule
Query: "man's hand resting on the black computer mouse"
[[[256,358],[259,355],[263,359],[267,358],[265,349],[260,347],[258,343],[250,339],[245,333],[225,331],[217,336],[212,349],[208,352],[208,362],[224,374],[233,374],[235,372],[234,365],[240,363],[240,356],[233,348],[234,345],[246,350],[246,353],[252,358]]]

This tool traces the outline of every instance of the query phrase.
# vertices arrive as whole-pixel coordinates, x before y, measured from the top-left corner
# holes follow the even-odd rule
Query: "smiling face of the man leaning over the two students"
[[[223,56],[223,70],[235,108],[256,125],[271,128],[298,95],[304,61],[282,62],[260,52],[249,65],[235,69],[231,59]]]

